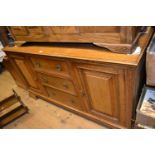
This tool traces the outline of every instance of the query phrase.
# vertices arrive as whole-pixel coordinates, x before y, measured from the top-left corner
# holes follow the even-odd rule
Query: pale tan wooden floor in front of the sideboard
[[[22,101],[28,106],[29,113],[16,119],[5,129],[103,129],[104,126],[98,125],[83,117],[73,114],[69,111],[61,109],[53,104],[50,104],[41,99],[33,99],[29,97],[28,92],[19,88],[9,72],[4,71],[0,74],[0,97],[11,94],[11,89],[14,88]]]

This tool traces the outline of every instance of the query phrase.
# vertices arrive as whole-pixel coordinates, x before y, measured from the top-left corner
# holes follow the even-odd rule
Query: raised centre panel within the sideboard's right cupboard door
[[[84,71],[83,76],[90,101],[89,111],[101,117],[117,120],[117,75]]]

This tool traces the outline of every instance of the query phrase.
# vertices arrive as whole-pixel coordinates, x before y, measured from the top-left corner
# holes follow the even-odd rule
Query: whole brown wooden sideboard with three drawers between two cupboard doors
[[[7,68],[30,96],[109,128],[131,128],[152,34],[148,28],[138,42],[139,52],[133,54],[112,53],[90,44],[58,43],[25,43],[3,50]]]

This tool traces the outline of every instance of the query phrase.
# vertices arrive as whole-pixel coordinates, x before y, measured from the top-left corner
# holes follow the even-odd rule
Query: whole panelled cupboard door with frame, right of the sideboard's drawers
[[[78,65],[80,83],[86,94],[88,113],[123,125],[122,71],[113,68]],[[121,107],[122,106],[122,107]]]

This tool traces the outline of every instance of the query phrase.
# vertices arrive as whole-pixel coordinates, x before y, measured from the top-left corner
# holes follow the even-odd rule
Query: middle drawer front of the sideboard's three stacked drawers
[[[76,94],[72,81],[69,81],[63,78],[48,76],[40,73],[38,73],[38,75],[39,75],[39,79],[42,81],[43,84],[50,85],[55,89],[59,89],[61,91],[64,91],[73,95]]]

